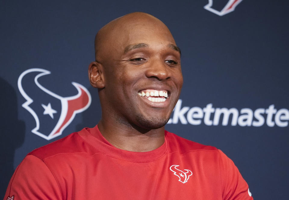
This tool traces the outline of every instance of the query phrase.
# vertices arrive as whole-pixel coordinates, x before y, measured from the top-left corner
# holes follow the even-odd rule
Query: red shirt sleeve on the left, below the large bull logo
[[[15,170],[4,200],[60,200],[61,196],[58,183],[47,165],[36,156],[27,155]]]

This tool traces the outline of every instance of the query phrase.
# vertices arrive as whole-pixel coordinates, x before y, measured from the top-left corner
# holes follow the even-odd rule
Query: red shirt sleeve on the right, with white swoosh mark
[[[222,159],[221,176],[224,200],[253,200],[248,184],[233,161],[219,150]]]

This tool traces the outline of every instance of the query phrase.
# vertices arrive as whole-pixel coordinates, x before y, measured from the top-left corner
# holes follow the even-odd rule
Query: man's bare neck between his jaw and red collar
[[[148,152],[164,143],[164,127],[146,130],[134,125],[110,123],[101,119],[98,129],[116,148],[132,152]]]

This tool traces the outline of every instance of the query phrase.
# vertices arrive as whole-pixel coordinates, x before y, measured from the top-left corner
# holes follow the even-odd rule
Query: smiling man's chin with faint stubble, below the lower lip
[[[137,116],[138,126],[144,129],[158,129],[166,125],[169,121],[168,118],[151,117],[145,118],[143,116]]]

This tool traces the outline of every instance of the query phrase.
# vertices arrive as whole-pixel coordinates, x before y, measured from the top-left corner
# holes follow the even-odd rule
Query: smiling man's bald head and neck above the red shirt
[[[164,143],[183,83],[180,57],[166,25],[148,14],[128,14],[98,32],[89,78],[103,111],[98,128],[112,145],[148,152]]]

